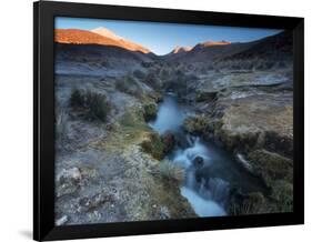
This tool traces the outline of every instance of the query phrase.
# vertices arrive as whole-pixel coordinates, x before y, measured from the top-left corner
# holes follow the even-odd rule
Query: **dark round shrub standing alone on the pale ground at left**
[[[71,107],[82,111],[83,115],[89,120],[99,119],[105,121],[111,110],[107,97],[88,90],[87,92],[73,90],[70,98]]]

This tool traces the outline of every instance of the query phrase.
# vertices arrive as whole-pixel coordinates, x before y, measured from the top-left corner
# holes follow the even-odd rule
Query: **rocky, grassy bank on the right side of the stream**
[[[234,195],[233,206],[240,205],[233,214],[292,211],[292,82],[279,77],[256,84],[256,75],[229,75],[227,88],[222,78],[212,80],[209,89],[197,87],[198,114],[184,122],[188,132],[213,140],[266,186],[265,193]]]

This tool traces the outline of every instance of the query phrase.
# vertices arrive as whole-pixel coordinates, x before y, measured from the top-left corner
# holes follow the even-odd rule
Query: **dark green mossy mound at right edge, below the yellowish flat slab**
[[[293,167],[290,159],[266,150],[255,150],[248,154],[248,160],[268,186],[281,179],[292,182]]]

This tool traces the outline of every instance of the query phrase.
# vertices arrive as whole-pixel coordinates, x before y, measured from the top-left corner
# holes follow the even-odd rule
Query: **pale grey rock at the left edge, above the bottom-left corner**
[[[78,168],[63,169],[57,178],[57,196],[62,196],[77,191],[82,175]]]

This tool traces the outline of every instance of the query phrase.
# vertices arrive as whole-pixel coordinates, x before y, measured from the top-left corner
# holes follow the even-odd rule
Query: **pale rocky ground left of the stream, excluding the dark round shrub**
[[[179,183],[160,173],[163,148],[154,145],[154,139],[160,142],[160,138],[147,124],[143,105],[155,107],[160,94],[147,88],[134,97],[117,91],[114,82],[115,79],[57,75],[56,223],[195,216],[180,195]],[[108,98],[112,108],[105,122],[85,120],[70,107],[76,87]],[[148,150],[143,150],[145,147]]]

